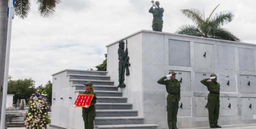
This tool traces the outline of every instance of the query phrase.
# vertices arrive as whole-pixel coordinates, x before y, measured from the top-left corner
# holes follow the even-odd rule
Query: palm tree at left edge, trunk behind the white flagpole
[[[52,15],[56,9],[56,5],[61,0],[35,0],[38,4],[38,10],[42,17]],[[21,19],[25,19],[30,12],[30,0],[16,0],[15,1],[15,15]],[[0,88],[4,84],[5,71],[5,55],[6,55],[6,38],[7,38],[7,7],[8,0],[0,0]],[[2,105],[2,94],[0,93],[0,114]]]

